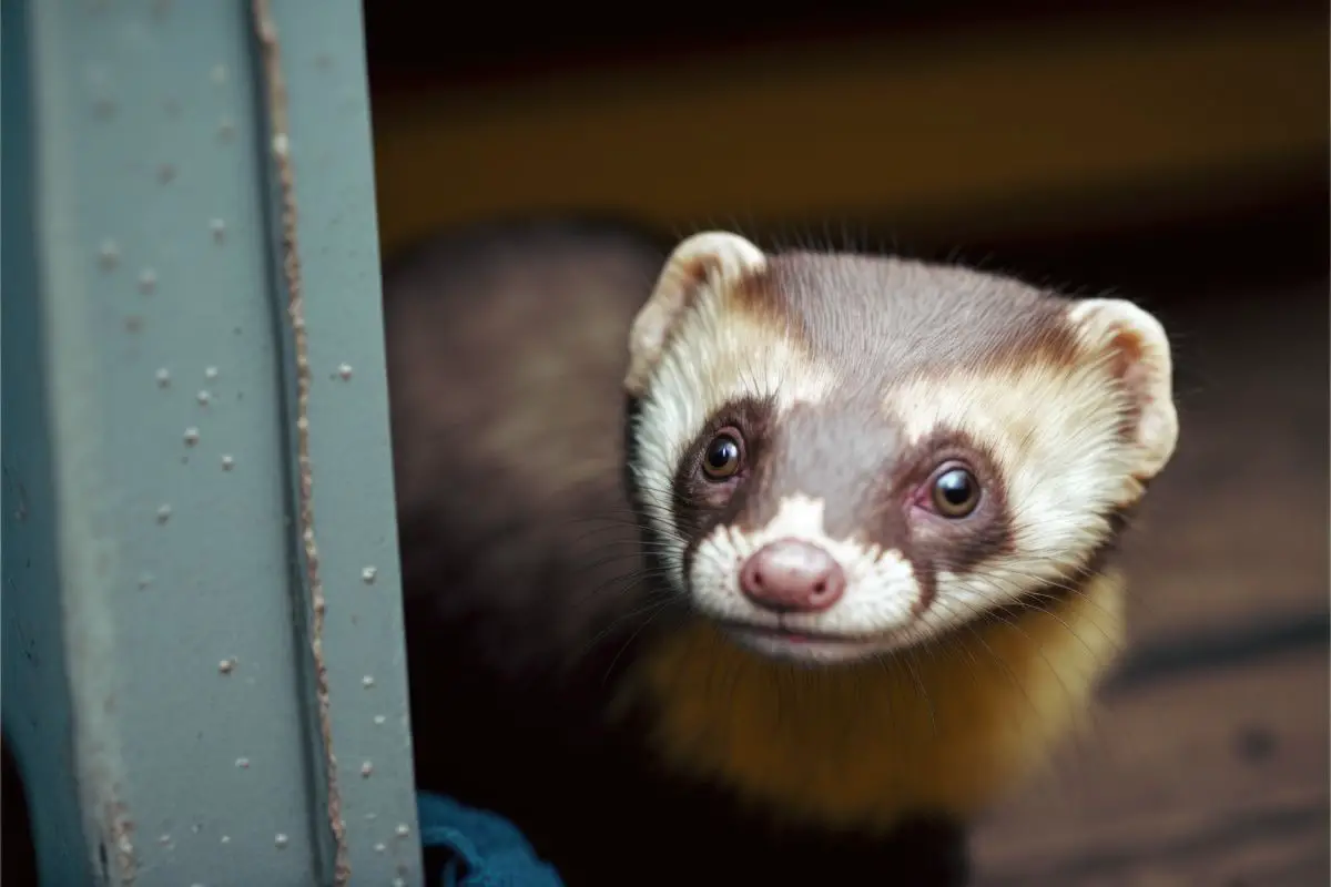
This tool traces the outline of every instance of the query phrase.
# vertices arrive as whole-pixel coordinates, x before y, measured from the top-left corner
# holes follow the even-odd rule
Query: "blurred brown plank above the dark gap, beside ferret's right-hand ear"
[[[1131,634],[1324,616],[1327,283],[1173,295],[1155,301],[1177,339],[1182,431],[1127,539]]]

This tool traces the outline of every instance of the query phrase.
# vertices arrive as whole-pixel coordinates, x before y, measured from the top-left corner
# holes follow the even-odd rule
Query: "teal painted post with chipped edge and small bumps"
[[[44,883],[421,883],[361,11],[273,7],[4,4],[3,723]]]

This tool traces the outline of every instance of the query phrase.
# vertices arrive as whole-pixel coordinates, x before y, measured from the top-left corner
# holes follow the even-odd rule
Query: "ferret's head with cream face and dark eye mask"
[[[626,388],[676,590],[812,662],[1074,582],[1178,438],[1169,340],[1130,302],[728,233],[667,261]]]

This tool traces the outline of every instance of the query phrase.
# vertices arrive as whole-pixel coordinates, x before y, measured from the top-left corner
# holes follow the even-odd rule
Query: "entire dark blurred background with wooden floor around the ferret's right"
[[[981,882],[1326,883],[1324,4],[924,5],[367,3],[383,249],[615,211],[1145,303],[1182,438],[1129,544],[1131,648],[977,835]]]

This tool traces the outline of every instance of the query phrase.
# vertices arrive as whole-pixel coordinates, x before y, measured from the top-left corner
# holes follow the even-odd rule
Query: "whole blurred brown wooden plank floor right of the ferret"
[[[977,836],[982,886],[1331,876],[1327,285],[1159,295],[1182,438],[1129,544],[1131,648]]]

